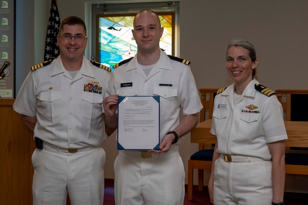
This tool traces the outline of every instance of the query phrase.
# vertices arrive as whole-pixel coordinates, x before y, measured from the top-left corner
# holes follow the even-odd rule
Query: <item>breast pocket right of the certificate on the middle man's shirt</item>
[[[160,115],[171,115],[175,109],[178,96],[176,87],[154,87],[153,94],[160,96]]]

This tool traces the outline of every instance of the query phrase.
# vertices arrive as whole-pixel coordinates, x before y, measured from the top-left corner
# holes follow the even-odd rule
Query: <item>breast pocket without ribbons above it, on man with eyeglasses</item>
[[[43,91],[37,99],[37,109],[44,110],[45,116],[51,118],[61,115],[61,91]]]

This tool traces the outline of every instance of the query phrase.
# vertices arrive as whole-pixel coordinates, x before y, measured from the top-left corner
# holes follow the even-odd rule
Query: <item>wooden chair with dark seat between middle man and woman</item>
[[[211,119],[213,115],[214,98],[218,89],[201,88],[201,103],[203,105],[200,111],[200,122]],[[212,143],[199,143],[199,151],[190,156],[188,160],[188,184],[187,198],[192,200],[192,185],[194,182],[194,169],[198,169],[198,190],[203,189],[203,170],[211,169],[211,160],[213,158],[214,146]]]

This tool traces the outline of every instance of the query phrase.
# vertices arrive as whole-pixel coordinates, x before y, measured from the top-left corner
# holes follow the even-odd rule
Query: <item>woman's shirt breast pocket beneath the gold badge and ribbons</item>
[[[239,122],[238,136],[240,138],[252,139],[259,133],[258,113],[242,113]]]

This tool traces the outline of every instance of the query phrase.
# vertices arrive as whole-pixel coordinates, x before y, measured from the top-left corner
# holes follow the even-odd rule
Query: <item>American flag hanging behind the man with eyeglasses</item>
[[[59,33],[60,15],[57,10],[56,0],[51,1],[50,16],[47,25],[44,61],[55,59],[60,54],[56,36]]]

